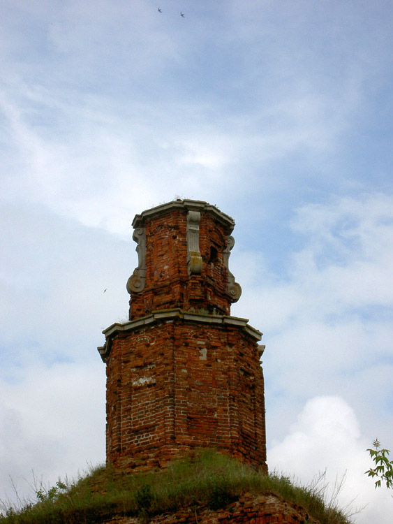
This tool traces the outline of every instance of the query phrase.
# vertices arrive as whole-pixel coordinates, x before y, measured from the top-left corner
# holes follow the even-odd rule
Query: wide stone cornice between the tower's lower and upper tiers
[[[106,362],[112,346],[112,337],[119,333],[135,331],[144,326],[150,326],[160,322],[175,321],[176,319],[182,319],[187,322],[214,324],[218,326],[234,326],[241,328],[244,333],[253,338],[255,342],[259,342],[262,338],[262,333],[247,323],[248,319],[241,319],[238,316],[200,314],[180,309],[157,310],[147,316],[142,316],[140,319],[131,320],[125,323],[115,322],[112,326],[109,326],[109,328],[104,329],[103,334],[105,335],[105,344],[102,347],[97,348],[98,353],[101,355],[103,361]],[[265,347],[262,346],[262,351],[264,348]]]

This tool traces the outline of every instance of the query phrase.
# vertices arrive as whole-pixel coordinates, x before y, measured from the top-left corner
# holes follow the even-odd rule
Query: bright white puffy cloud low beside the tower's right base
[[[357,524],[389,523],[392,500],[387,490],[376,491],[364,472],[373,466],[366,453],[371,443],[360,435],[353,409],[341,398],[312,398],[297,416],[288,435],[273,442],[268,451],[270,470],[288,474],[309,485],[318,473],[326,471],[329,484],[327,500],[334,494],[337,481],[343,479],[338,495],[339,507],[362,509],[354,519]]]

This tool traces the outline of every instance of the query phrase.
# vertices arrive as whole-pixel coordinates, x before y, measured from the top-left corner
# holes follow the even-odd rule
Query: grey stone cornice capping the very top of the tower
[[[232,233],[235,227],[235,220],[228,214],[223,213],[215,205],[199,200],[175,200],[165,204],[157,205],[156,208],[142,211],[140,214],[135,214],[133,219],[133,228],[140,228],[144,226],[144,220],[151,217],[156,217],[160,214],[165,214],[175,209],[184,209],[186,211],[207,212],[214,216],[214,218],[222,224],[227,234]]]

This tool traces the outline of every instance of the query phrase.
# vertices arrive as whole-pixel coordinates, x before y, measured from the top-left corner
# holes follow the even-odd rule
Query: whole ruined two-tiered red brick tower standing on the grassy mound
[[[235,222],[177,200],[137,214],[129,321],[105,329],[107,462],[165,465],[195,447],[266,470],[261,333],[230,316]]]

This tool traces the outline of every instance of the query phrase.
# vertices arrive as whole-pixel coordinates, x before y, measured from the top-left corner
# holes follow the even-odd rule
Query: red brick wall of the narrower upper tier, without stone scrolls
[[[228,231],[211,214],[200,219],[200,254],[202,275],[188,275],[186,210],[172,210],[147,218],[146,286],[142,293],[133,293],[130,320],[154,310],[181,307],[183,310],[206,310],[230,314],[228,271],[223,263]],[[212,247],[217,257],[211,260]]]

